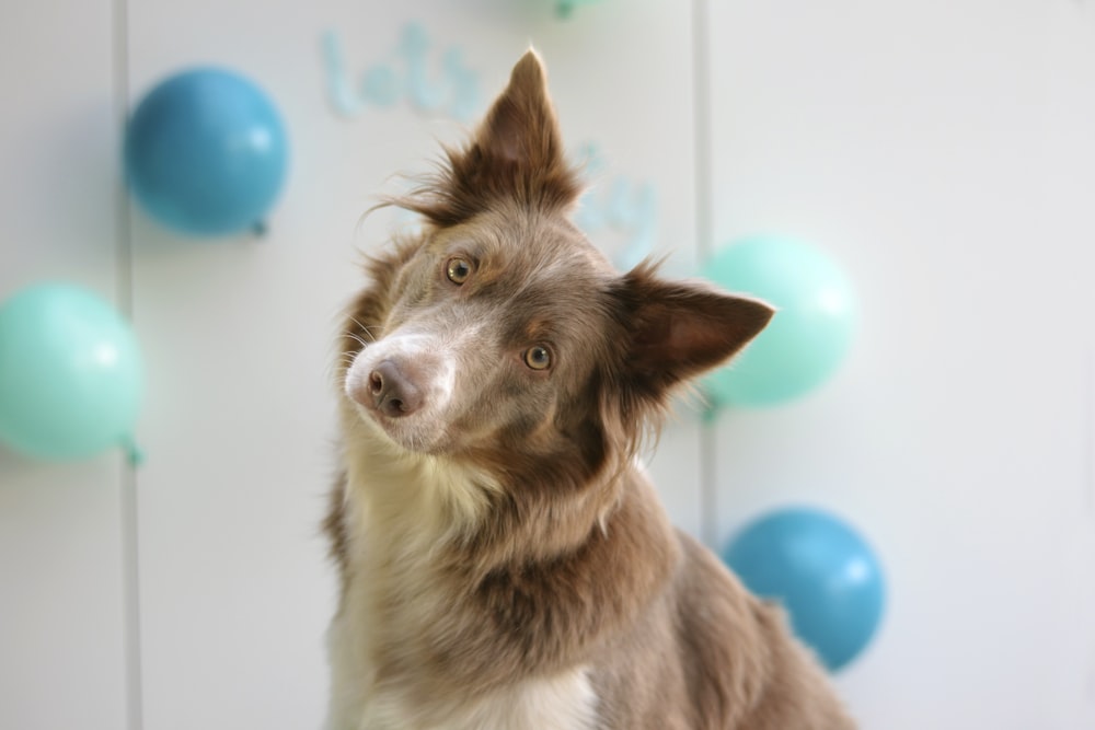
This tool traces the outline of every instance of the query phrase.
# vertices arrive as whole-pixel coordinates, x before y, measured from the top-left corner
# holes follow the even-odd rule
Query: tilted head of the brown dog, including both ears
[[[583,490],[630,460],[675,385],[772,315],[652,265],[621,275],[574,227],[580,184],[532,51],[447,158],[395,200],[425,232],[372,260],[351,309],[339,370],[349,430],[474,465],[510,499]]]

